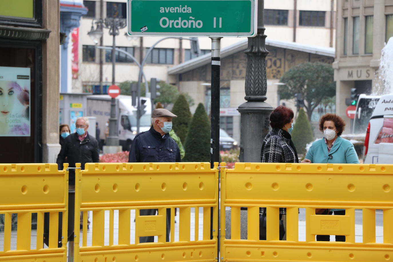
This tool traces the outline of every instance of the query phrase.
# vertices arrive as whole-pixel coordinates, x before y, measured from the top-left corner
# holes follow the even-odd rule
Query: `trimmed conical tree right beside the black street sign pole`
[[[198,104],[185,139],[184,162],[210,161],[210,121],[204,105]]]

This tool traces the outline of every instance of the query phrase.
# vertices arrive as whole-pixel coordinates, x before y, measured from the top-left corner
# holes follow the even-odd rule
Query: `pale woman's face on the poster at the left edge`
[[[11,81],[0,81],[0,119],[15,114],[14,109],[20,104],[17,98],[17,88]]]

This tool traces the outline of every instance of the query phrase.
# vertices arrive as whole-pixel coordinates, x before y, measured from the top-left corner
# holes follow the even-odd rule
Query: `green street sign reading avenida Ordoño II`
[[[137,36],[253,37],[257,0],[128,0],[127,32]]]

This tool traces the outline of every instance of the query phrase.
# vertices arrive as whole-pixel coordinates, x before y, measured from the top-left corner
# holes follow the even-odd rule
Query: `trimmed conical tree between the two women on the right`
[[[299,110],[298,118],[291,133],[299,159],[306,154],[306,145],[314,140],[312,128],[303,108]]]

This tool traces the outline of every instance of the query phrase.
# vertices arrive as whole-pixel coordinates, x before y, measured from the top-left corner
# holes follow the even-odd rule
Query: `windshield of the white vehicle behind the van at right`
[[[364,97],[359,99],[356,106],[356,115],[353,119],[353,134],[365,134],[367,126],[373,115],[374,108],[379,98]]]

